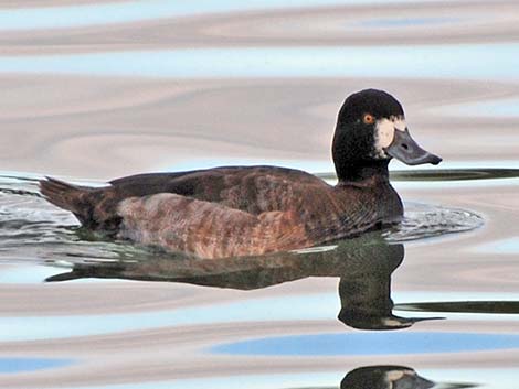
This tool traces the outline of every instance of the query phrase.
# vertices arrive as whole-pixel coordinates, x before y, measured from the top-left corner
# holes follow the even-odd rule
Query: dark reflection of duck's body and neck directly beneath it
[[[391,274],[403,258],[402,244],[389,244],[380,233],[373,233],[336,246],[264,257],[201,260],[153,255],[116,262],[80,262],[71,272],[46,281],[103,278],[255,290],[308,277],[338,277],[338,317],[342,323],[359,329],[399,329],[437,318],[393,315]]]

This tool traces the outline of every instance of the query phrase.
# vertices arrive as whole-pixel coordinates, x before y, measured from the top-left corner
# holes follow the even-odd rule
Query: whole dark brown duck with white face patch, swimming
[[[411,137],[402,105],[364,89],[342,104],[332,138],[337,184],[273,165],[145,173],[91,187],[40,181],[44,198],[110,239],[203,259],[263,256],[325,245],[402,220],[389,180],[394,158],[442,159]]]

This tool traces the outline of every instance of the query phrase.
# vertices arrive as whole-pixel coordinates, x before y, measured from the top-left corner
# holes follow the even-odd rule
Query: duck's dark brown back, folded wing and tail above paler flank
[[[153,173],[123,177],[105,187],[86,187],[47,179],[40,183],[42,194],[53,204],[71,210],[92,229],[116,233],[119,204],[126,198],[159,193],[221,204],[231,209],[260,215],[304,208],[330,186],[298,170],[275,166],[215,168],[179,173]],[[311,191],[310,191],[311,190]],[[314,195],[308,196],[311,192]]]

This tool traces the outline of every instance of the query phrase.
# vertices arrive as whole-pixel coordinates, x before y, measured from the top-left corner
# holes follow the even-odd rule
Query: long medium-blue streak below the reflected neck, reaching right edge
[[[519,348],[519,335],[353,333],[266,337],[211,348],[216,354],[269,356],[395,355]]]

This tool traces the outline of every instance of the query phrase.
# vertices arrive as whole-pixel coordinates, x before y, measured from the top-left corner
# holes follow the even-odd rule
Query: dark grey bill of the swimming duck
[[[422,149],[413,138],[411,138],[407,129],[405,129],[405,131],[394,131],[393,141],[384,150],[391,156],[409,165],[421,165],[423,163],[437,165],[442,162],[439,156]]]

